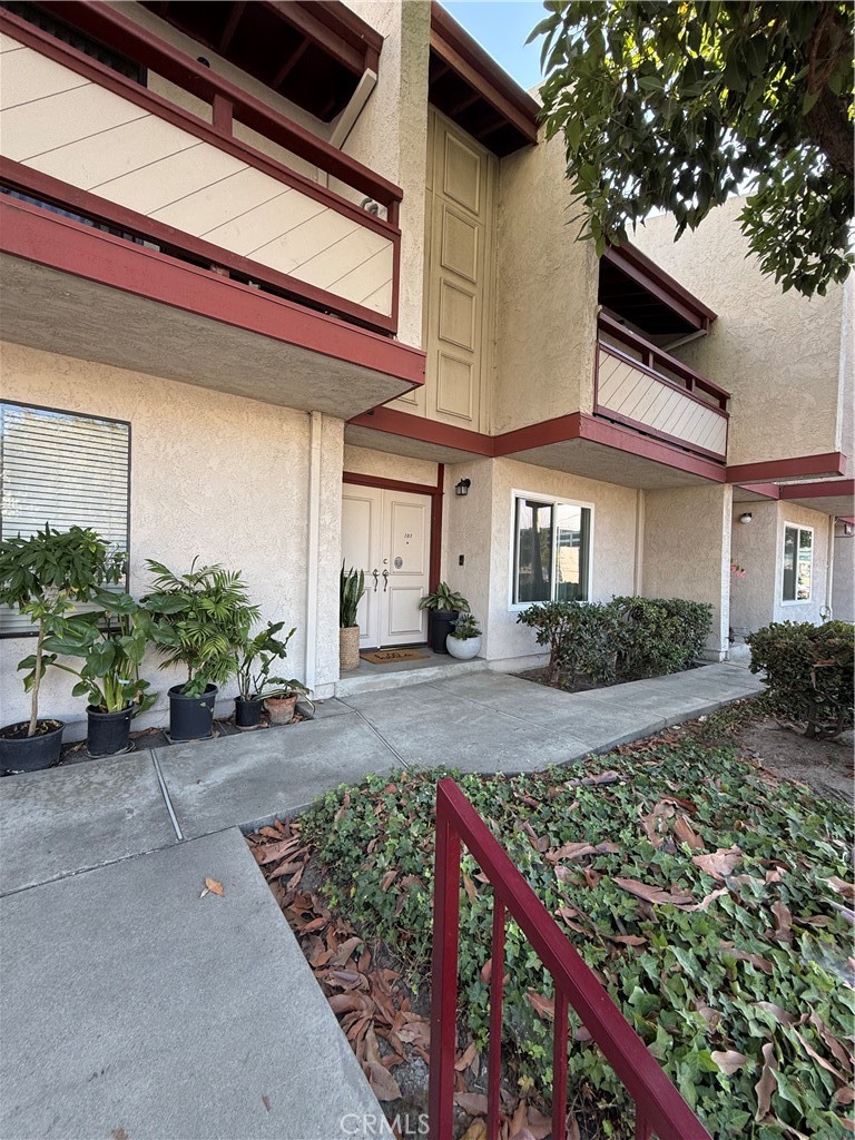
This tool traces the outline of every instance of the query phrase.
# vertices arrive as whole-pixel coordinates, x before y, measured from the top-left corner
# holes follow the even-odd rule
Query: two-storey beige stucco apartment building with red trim
[[[782,295],[730,206],[597,261],[440,6],[7,2],[0,54],[3,535],[95,526],[135,593],[243,569],[321,698],[342,560],[365,646],[424,642],[446,579],[502,669],[532,601],[706,601],[714,660],[852,608],[847,292]]]

